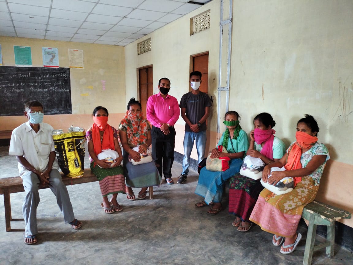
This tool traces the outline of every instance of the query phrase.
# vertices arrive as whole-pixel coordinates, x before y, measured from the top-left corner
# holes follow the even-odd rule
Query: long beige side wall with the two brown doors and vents
[[[319,141],[331,155],[317,199],[353,212],[353,2],[238,0],[233,6],[229,108],[239,112],[248,133],[256,114],[271,113],[276,135],[287,146],[295,140],[297,121],[313,115],[321,129]],[[210,29],[190,36],[190,18],[208,9]],[[217,138],[219,13],[220,1],[213,0],[125,47],[127,99],[137,96],[136,69],[152,64],[154,86],[167,76],[170,94],[180,100],[189,91],[189,56],[209,51],[209,95],[215,99],[211,147]],[[149,37],[151,51],[137,55],[137,43]],[[184,153],[183,119],[176,127],[175,151]],[[342,223],[353,227],[353,219]]]

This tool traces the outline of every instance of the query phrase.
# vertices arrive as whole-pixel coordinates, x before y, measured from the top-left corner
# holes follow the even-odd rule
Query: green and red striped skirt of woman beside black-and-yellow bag
[[[94,166],[94,162],[92,162],[91,170],[99,180],[103,197],[119,192],[125,194],[125,177],[122,166],[103,169],[97,165]]]

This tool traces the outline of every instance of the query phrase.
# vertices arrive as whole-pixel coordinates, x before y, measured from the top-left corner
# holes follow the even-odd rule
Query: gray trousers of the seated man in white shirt
[[[56,202],[64,216],[64,221],[66,224],[70,223],[75,219],[75,216],[73,214],[67,188],[64,183],[62,183],[61,175],[57,169],[52,169],[49,176],[49,187],[56,196]],[[38,233],[37,207],[40,201],[38,192],[40,180],[33,172],[25,174],[22,177],[22,180],[26,192],[22,205],[23,218],[26,225],[25,232],[26,235],[36,235]]]

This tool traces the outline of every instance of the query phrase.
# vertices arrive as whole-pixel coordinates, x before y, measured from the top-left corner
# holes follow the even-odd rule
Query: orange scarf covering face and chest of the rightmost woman
[[[288,150],[287,163],[285,165],[286,170],[301,169],[301,149],[311,148],[318,140],[316,136],[311,136],[301,131],[297,131],[295,139],[297,139],[297,142],[293,143]],[[293,179],[295,185],[301,181],[301,177],[295,177]]]

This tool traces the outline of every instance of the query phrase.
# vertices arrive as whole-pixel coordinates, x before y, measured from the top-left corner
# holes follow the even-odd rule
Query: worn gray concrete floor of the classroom
[[[17,176],[17,161],[0,147],[0,177]],[[86,160],[87,161],[87,160]],[[85,164],[89,166],[88,163]],[[11,222],[5,231],[4,202],[0,199],[0,264],[302,264],[307,228],[299,226],[303,239],[289,255],[272,245],[272,235],[253,226],[241,233],[232,226],[227,194],[216,216],[207,207],[196,208],[201,201],[194,194],[197,172],[190,172],[186,184],[177,184],[181,165],[173,164],[174,185],[165,181],[154,189],[153,200],[129,201],[118,195],[124,210],[105,214],[100,206],[98,182],[68,186],[76,217],[83,222],[80,230],[64,224],[50,189],[40,190],[37,209],[38,243],[25,245],[24,221]],[[134,189],[137,195],[138,189]],[[24,193],[11,194],[12,217],[22,217]],[[318,241],[324,239],[317,236]],[[335,256],[325,250],[313,254],[312,264],[353,264],[353,254],[335,246]]]

